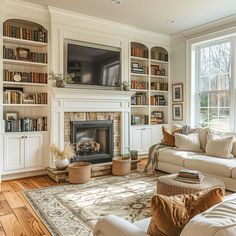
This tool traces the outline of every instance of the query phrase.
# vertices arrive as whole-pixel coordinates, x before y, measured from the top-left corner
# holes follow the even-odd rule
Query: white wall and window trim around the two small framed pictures
[[[191,89],[191,45],[236,33],[236,16],[209,23],[171,37],[171,83],[184,84],[183,121],[171,120],[171,124],[189,124],[193,102]],[[171,117],[172,118],[172,117]]]

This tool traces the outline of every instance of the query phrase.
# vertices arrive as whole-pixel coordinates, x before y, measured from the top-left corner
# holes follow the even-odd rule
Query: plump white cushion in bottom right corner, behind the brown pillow
[[[192,218],[180,236],[235,236],[236,194],[232,194],[216,206]]]

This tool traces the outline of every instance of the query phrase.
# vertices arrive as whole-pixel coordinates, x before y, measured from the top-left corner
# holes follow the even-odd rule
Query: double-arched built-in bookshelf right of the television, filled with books
[[[157,125],[168,123],[168,52],[165,48],[147,47],[131,42],[130,86],[131,124]]]

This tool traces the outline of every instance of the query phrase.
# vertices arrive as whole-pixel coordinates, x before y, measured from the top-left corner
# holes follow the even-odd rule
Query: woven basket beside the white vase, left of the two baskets
[[[69,182],[72,184],[82,184],[90,180],[91,164],[89,162],[76,162],[69,164]]]

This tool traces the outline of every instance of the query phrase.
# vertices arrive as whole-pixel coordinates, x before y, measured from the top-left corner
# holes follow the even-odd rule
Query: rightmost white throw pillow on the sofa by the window
[[[232,158],[233,149],[233,136],[218,136],[214,133],[208,134],[206,155],[221,157],[221,158]]]

